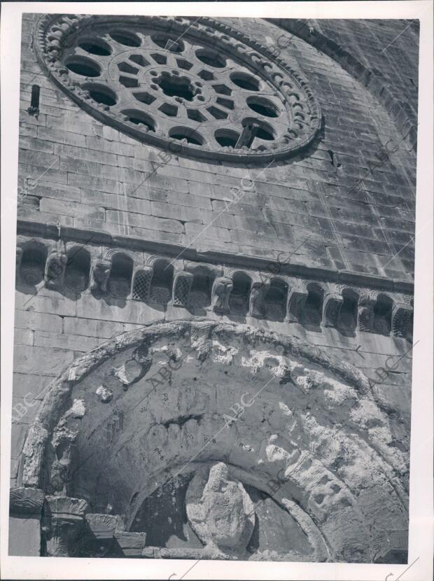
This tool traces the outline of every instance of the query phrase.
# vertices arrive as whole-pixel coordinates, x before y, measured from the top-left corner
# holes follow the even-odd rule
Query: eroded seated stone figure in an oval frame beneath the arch
[[[224,462],[211,467],[203,484],[200,472],[188,487],[186,510],[191,526],[205,545],[223,552],[244,549],[255,526],[253,502],[244,486],[230,477]]]

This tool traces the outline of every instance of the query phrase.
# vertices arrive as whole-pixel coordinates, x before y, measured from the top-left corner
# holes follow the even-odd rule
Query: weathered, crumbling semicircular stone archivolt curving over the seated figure
[[[223,461],[332,559],[372,561],[407,528],[407,457],[367,378],[248,325],[160,323],[87,353],[52,384],[24,456],[25,486],[127,524],[177,474]]]

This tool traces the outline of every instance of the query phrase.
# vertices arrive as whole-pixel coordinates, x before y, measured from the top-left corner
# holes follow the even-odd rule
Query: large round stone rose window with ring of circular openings
[[[321,123],[298,73],[209,18],[45,15],[36,50],[88,113],[174,153],[272,160]]]

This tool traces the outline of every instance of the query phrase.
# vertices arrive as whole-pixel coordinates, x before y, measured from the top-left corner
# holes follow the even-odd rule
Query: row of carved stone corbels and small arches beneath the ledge
[[[275,267],[274,263],[273,266]],[[276,269],[273,269],[276,272]],[[18,237],[17,285],[78,299],[143,301],[204,315],[250,316],[412,339],[412,295],[173,259],[104,246]]]

